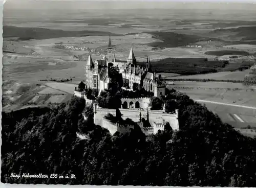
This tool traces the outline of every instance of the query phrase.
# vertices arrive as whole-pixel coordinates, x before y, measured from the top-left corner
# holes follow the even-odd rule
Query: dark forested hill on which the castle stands
[[[255,139],[223,124],[178,92],[181,130],[111,136],[93,124],[92,107],[73,98],[43,114],[3,113],[3,183],[256,186]],[[90,140],[79,140],[76,131]],[[10,173],[74,174],[76,179],[11,178]]]

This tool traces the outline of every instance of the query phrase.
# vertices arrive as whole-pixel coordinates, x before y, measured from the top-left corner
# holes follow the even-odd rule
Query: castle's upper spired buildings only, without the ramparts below
[[[111,38],[109,38],[109,45],[107,55],[101,60],[93,62],[89,54],[87,64],[85,67],[86,86],[100,91],[109,89],[111,78],[109,76],[109,63],[119,68],[119,73],[122,79],[129,83],[129,87],[133,88],[134,83],[143,87],[146,91],[154,93],[155,97],[165,95],[166,82],[151,70],[150,58],[147,58],[146,67],[137,65],[133,49],[131,48],[130,54],[126,61],[117,60],[113,52]]]

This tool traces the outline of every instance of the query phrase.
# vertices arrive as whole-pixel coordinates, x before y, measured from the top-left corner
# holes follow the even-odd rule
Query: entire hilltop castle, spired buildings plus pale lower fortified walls
[[[165,79],[160,76],[157,77],[156,73],[152,72],[150,58],[147,58],[145,67],[137,65],[137,60],[131,48],[126,61],[117,60],[115,53],[113,53],[111,38],[109,38],[108,52],[105,58],[93,62],[89,54],[85,72],[86,86],[96,89],[99,93],[104,89],[109,89],[111,84],[109,76],[110,63],[112,64],[111,66],[119,68],[119,74],[122,75],[123,81],[128,83],[130,88],[133,88],[134,84],[136,84],[139,88],[153,92],[155,97],[165,96]],[[94,103],[86,98],[85,92],[77,91],[76,87],[74,95],[86,99],[88,104]],[[123,125],[107,119],[106,115],[110,113],[117,118],[121,117],[122,120],[131,119],[146,135],[156,134],[158,130],[164,130],[167,123],[173,130],[179,130],[178,110],[175,113],[166,113],[165,105],[162,110],[148,110],[150,101],[151,99],[147,97],[122,98],[121,106],[118,109],[105,109],[94,103],[94,124],[108,129],[112,135],[117,131],[124,133],[134,129],[134,125],[126,125],[127,123]],[[83,116],[84,119],[87,119],[85,114]]]

